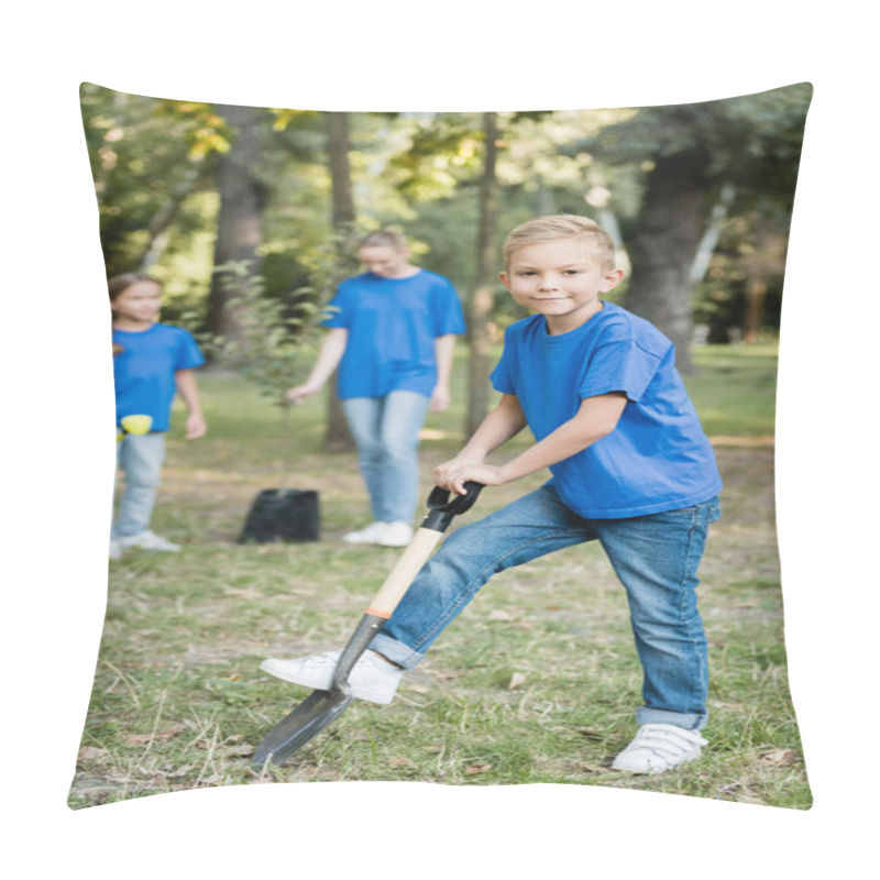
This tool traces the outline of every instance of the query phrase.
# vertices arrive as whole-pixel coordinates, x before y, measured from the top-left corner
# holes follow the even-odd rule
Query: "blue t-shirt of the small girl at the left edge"
[[[117,425],[125,416],[150,416],[151,430],[167,431],[177,391],[175,373],[201,366],[205,358],[182,327],[154,323],[148,330],[113,330],[122,351],[113,358]]]

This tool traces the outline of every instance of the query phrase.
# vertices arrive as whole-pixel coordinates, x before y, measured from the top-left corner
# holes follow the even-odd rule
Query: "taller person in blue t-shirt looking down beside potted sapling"
[[[416,512],[419,430],[429,408],[449,406],[464,316],[452,283],[414,266],[398,232],[369,233],[358,258],[366,272],[339,286],[311,375],[287,397],[300,403],[315,394],[339,365],[339,396],[373,514],[373,522],[342,539],[405,547]]]

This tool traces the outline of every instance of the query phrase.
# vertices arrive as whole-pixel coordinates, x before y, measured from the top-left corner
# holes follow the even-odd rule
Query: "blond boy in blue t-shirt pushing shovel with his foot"
[[[505,336],[492,374],[498,406],[438,485],[502,485],[549,468],[552,479],[453,532],[421,570],[350,676],[355,696],[388,703],[403,673],[494,574],[574,543],[598,540],[627,592],[642,666],[640,725],[613,767],[670,770],[706,745],[706,639],[696,570],[722,482],[712,448],[674,367],[672,343],[602,295],[619,284],[613,243],[575,216],[517,227],[502,284],[535,312]],[[506,464],[488,453],[529,427],[535,446]],[[267,660],[262,669],[327,688],[338,652]]]

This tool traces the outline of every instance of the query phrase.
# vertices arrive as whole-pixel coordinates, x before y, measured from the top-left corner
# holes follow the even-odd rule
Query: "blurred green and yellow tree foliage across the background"
[[[465,302],[482,290],[487,332],[499,330],[521,312],[494,284],[486,248],[499,254],[506,231],[536,215],[576,212],[606,226],[624,267],[631,266],[614,296],[626,305],[653,297],[658,314],[676,316],[671,334],[686,352],[694,318],[712,323],[716,339],[733,322],[745,328],[748,315],[759,329],[778,326],[810,96],[800,85],[675,107],[495,113],[488,227],[481,113],[231,109],[89,84],[81,106],[108,274],[153,272],[165,286],[168,320],[219,329],[209,322],[213,270],[243,260],[257,273],[260,298],[290,317],[296,304],[318,296],[304,290],[321,286],[319,266],[327,242],[338,243],[345,200],[348,229],[406,232],[416,262],[449,276]],[[237,156],[246,158],[235,166]],[[223,206],[242,208],[224,178],[230,167],[253,199],[257,231],[248,252],[218,246]],[[724,191],[733,198],[719,216]],[[481,222],[488,242],[480,241]],[[695,254],[706,248],[712,260],[694,279]],[[749,312],[758,290],[761,309]],[[218,298],[222,312],[243,307]]]

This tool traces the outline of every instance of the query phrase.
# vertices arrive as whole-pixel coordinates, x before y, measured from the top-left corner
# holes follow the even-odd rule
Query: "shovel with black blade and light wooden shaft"
[[[349,674],[354,664],[370,647],[373,636],[394,614],[409,585],[440,543],[452,518],[471,509],[483,486],[471,482],[465,483],[464,488],[465,495],[455,495],[451,501],[449,492],[439,486],[433,488],[428,496],[430,513],[373,597],[349,644],[343,648],[333,671],[330,690],[314,691],[305,702],[282,718],[257,746],[253,757],[254,765],[263,767],[267,761],[284,763],[349,707],[354,698],[349,686]]]

